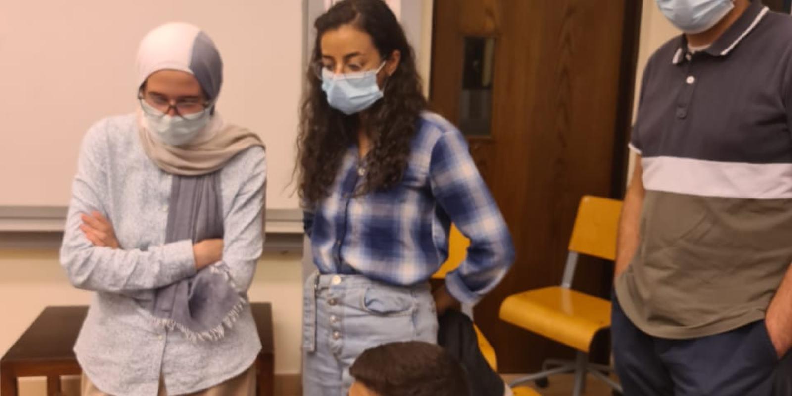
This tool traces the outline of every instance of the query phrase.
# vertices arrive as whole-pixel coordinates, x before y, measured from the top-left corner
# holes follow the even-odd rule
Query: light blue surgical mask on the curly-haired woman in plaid
[[[322,70],[322,90],[327,94],[327,103],[347,116],[368,109],[383,97],[377,74],[384,66],[385,62],[377,70],[348,74]]]

